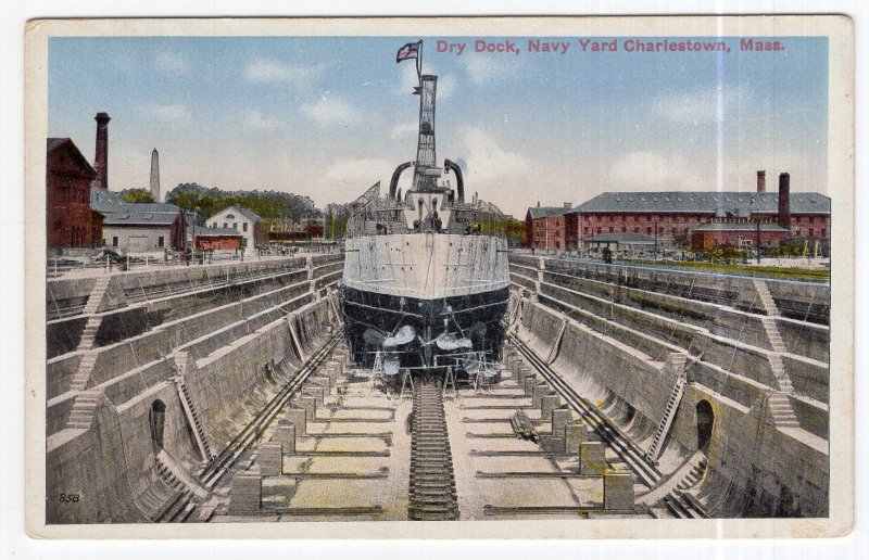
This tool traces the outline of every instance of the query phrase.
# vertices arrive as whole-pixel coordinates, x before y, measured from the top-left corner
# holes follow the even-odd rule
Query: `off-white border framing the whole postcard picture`
[[[59,36],[828,36],[832,199],[830,518],[45,524],[45,139],[48,38]],[[844,16],[35,21],[25,36],[26,527],[51,538],[683,538],[846,534],[854,514],[854,35]],[[832,387],[835,387],[833,391]],[[279,530],[279,531],[276,531]]]

